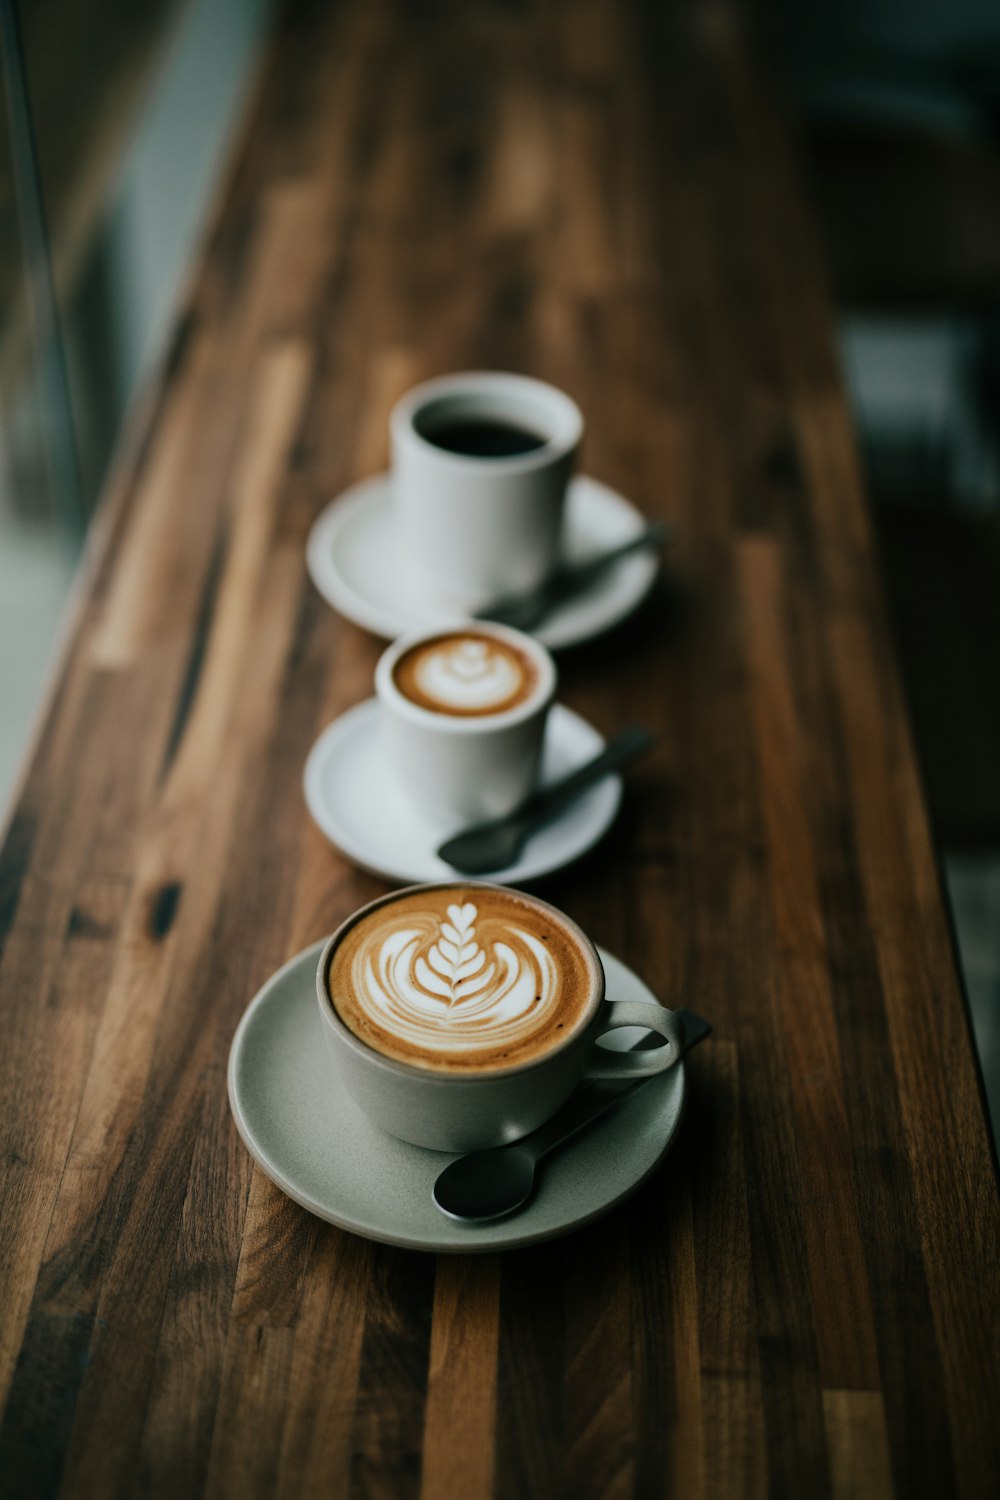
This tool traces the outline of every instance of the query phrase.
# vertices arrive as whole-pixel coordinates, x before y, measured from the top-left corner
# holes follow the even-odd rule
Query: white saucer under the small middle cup
[[[541,782],[553,782],[604,748],[597,729],[556,704],[541,753]],[[396,784],[379,734],[379,704],[369,698],[324,729],[309,752],[306,804],[321,832],[363,870],[387,880],[420,884],[454,874],[435,854],[462,825],[423,818]],[[619,776],[606,776],[520,852],[516,864],[489,876],[501,885],[537,880],[586,854],[615,820],[622,800]]]

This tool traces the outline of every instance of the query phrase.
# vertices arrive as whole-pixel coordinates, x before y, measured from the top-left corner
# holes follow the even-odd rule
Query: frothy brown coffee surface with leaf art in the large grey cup
[[[601,988],[592,951],[549,908],[460,885],[376,906],[343,934],[327,974],[355,1036],[447,1072],[540,1058],[586,1023]]]

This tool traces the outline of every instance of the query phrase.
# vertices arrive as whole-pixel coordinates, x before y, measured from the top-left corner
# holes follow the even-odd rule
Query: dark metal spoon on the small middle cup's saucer
[[[463,874],[489,874],[490,870],[505,868],[514,862],[522,844],[535,828],[553,818],[594,782],[643,754],[652,744],[654,736],[648,729],[622,729],[609,740],[598,756],[558,782],[532,792],[513,813],[495,818],[489,824],[477,824],[475,828],[466,828],[447,838],[438,849],[438,858],[462,870]]]

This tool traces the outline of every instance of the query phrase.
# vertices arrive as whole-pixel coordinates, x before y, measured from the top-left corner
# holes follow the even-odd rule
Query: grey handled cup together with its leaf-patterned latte
[[[607,999],[591,939],[547,902],[478,880],[415,885],[348,918],[316,970],[340,1084],[390,1136],[432,1150],[502,1146],[582,1078],[642,1078],[684,1050],[672,1011]],[[610,1052],[643,1026],[663,1046]]]

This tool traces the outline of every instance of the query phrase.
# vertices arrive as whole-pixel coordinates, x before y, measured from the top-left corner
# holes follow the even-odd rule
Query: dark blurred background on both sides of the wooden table
[[[276,9],[0,0],[0,826]],[[996,1130],[1000,6],[772,0],[769,22]]]

